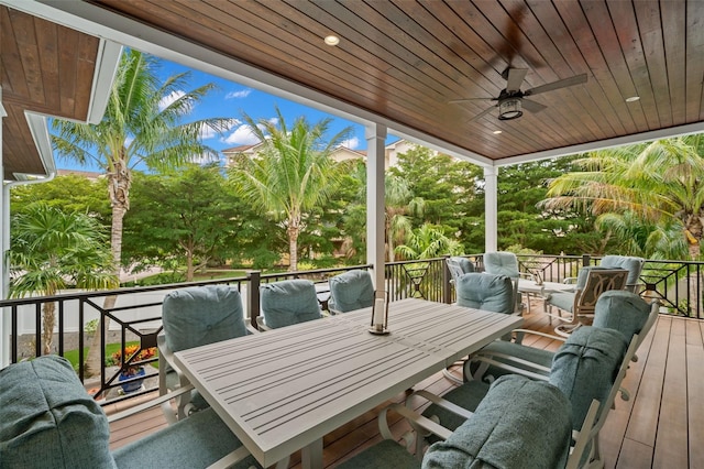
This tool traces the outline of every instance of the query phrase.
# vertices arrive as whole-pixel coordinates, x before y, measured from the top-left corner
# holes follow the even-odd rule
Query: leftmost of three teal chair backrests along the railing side
[[[240,292],[228,285],[189,286],[168,293],[162,321],[166,346],[174,352],[248,334]]]

